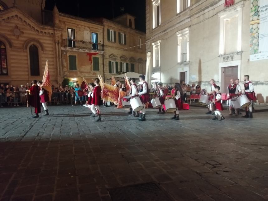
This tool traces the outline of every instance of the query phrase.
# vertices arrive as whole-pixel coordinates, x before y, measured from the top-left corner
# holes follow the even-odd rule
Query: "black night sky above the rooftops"
[[[52,10],[56,4],[59,12],[79,17],[105,17],[112,19],[112,5],[114,17],[123,13],[136,16],[135,28],[145,32],[145,0],[46,0],[45,9]],[[120,7],[125,8],[125,12],[120,11]]]

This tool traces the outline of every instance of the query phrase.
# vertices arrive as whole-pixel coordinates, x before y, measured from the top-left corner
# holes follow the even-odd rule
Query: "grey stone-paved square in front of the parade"
[[[80,106],[0,109],[0,200],[111,200],[108,189],[155,181],[174,200],[268,199],[267,112],[213,121],[203,108],[171,114]],[[141,200],[142,201],[142,200]]]

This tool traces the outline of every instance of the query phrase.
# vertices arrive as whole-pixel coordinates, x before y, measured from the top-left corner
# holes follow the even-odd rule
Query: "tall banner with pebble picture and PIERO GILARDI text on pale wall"
[[[268,1],[251,1],[250,61],[268,59]]]

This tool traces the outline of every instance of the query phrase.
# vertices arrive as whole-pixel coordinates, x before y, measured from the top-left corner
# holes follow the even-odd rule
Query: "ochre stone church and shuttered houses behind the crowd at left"
[[[44,7],[45,0],[0,1],[1,83],[41,80],[46,60],[55,85],[65,78],[75,85],[82,76],[91,82],[97,74],[145,73],[145,33],[135,30],[135,17],[84,19]]]

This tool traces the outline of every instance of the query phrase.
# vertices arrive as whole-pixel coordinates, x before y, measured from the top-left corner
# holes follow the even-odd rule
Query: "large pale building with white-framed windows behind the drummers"
[[[268,51],[258,50],[260,1],[224,2],[146,0],[146,51],[153,53],[154,77],[202,89],[215,79],[226,92],[231,78],[243,82],[248,74],[258,101],[268,102]]]

